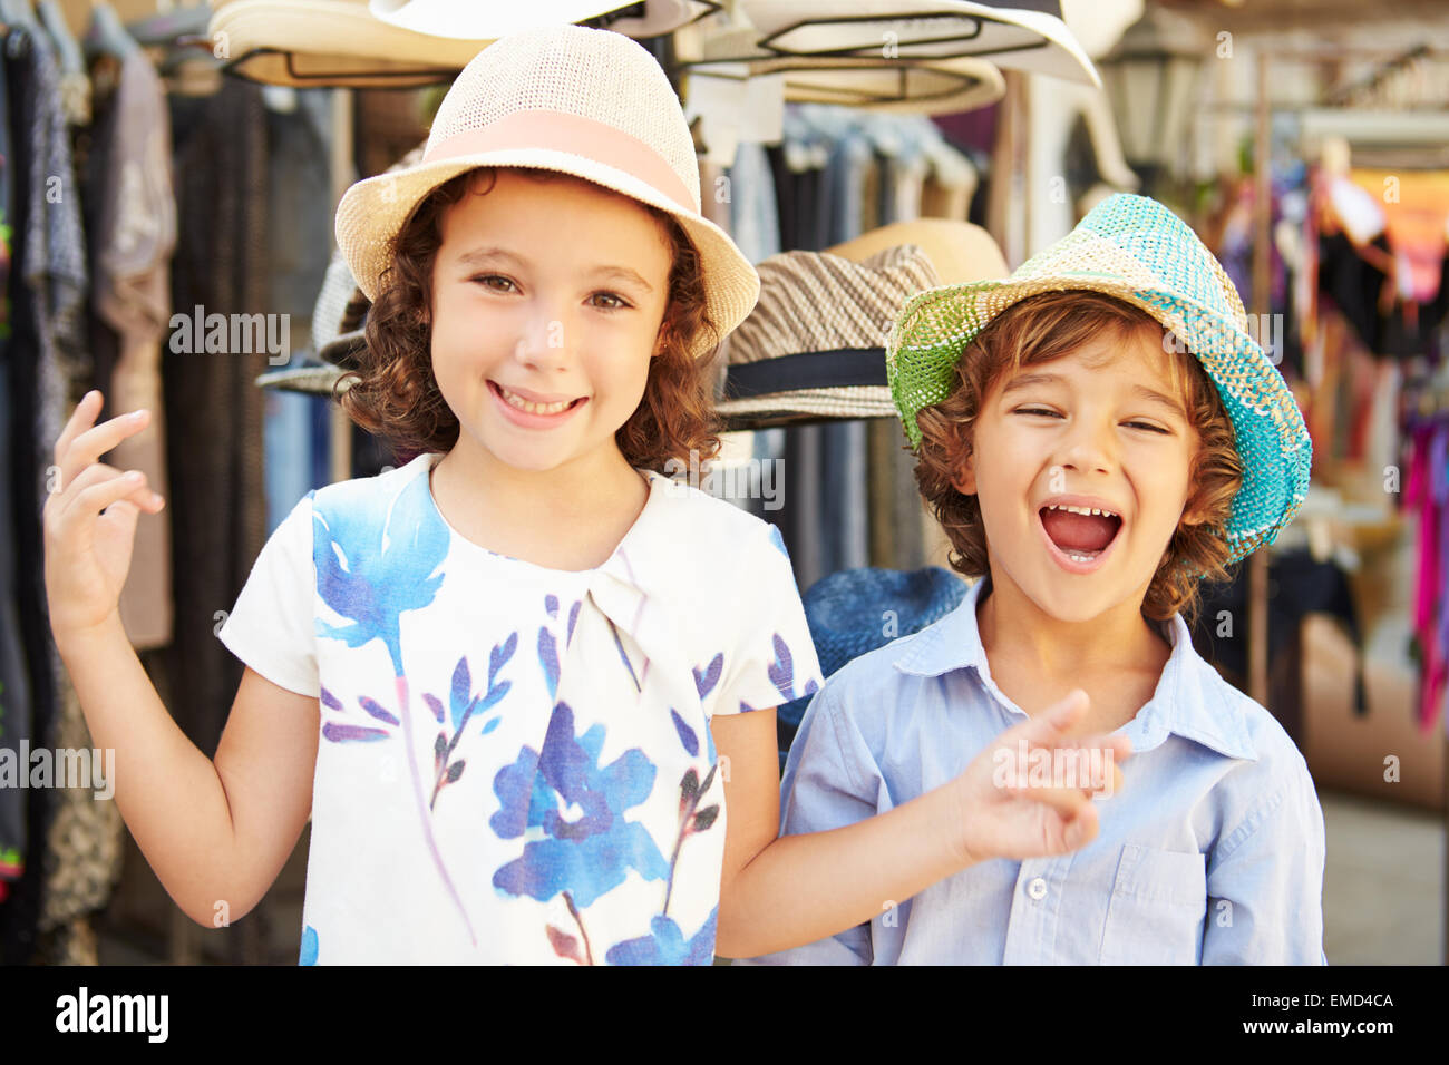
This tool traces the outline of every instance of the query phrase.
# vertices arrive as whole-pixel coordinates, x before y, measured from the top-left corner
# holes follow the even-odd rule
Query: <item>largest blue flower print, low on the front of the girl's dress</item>
[[[539,901],[568,888],[577,906],[588,907],[623,884],[629,869],[645,880],[669,875],[648,829],[625,820],[653,790],[653,762],[632,748],[600,767],[603,745],[603,724],[575,738],[574,711],[559,703],[543,751],[523,748],[513,765],[498,771],[493,790],[503,807],[488,822],[493,830],[517,839],[526,829],[542,827],[545,839],[532,840],[520,858],[494,872],[496,888]],[[564,811],[575,804],[582,814],[567,820]]]

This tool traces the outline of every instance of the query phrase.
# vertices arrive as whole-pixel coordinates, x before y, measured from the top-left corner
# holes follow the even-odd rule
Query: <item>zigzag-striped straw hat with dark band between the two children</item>
[[[756,270],[759,303],[720,345],[729,426],[891,417],[885,335],[901,301],[939,281],[926,252],[907,243],[853,262],[794,251]]]

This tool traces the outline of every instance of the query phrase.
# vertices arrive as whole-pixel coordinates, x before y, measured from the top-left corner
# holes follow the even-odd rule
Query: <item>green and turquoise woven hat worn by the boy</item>
[[[913,448],[916,416],[945,400],[965,346],[1029,296],[1085,290],[1140,307],[1181,339],[1223,400],[1243,467],[1229,561],[1271,543],[1303,506],[1313,443],[1282,374],[1253,339],[1237,290],[1193,229],[1156,200],[1119,193],[1009,278],[913,296],[887,343],[891,394]]]

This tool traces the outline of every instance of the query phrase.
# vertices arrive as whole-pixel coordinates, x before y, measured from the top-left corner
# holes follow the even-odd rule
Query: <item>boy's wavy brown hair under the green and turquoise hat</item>
[[[916,483],[951,539],[953,569],[966,577],[990,569],[981,506],[975,496],[958,491],[952,480],[971,456],[972,426],[991,385],[1009,371],[1062,358],[1103,333],[1124,336],[1137,329],[1168,336],[1156,319],[1122,300],[1093,291],[1053,291],[1013,304],[966,345],[951,396],[923,407],[917,419],[922,443]],[[1188,471],[1187,510],[1197,510],[1206,520],[1178,523],[1148,585],[1142,613],[1164,620],[1181,611],[1191,625],[1200,580],[1229,578],[1226,529],[1243,468],[1217,388],[1197,358],[1169,339],[1174,342],[1162,346],[1174,352],[1168,358],[1172,387],[1185,400],[1200,440]]]

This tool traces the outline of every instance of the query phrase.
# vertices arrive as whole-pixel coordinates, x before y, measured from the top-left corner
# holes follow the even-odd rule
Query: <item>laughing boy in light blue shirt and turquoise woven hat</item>
[[[1114,196],[1006,281],[911,297],[888,362],[952,565],[981,580],[816,696],[781,832],[906,803],[1078,687],[1078,727],[1135,753],[1087,848],[978,864],[758,961],[1326,962],[1307,767],[1179,616],[1308,483],[1303,419],[1222,267],[1161,204]]]

